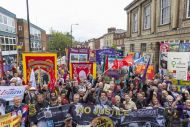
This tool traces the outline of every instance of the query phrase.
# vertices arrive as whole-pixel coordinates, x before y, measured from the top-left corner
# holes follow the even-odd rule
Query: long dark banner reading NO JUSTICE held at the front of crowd
[[[51,121],[52,125],[62,127],[67,114],[72,116],[77,127],[165,127],[162,108],[129,111],[108,105],[77,103],[44,109],[37,118],[38,121]]]

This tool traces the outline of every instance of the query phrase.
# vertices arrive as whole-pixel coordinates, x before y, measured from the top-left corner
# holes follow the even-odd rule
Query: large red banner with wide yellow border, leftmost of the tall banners
[[[57,54],[55,53],[23,53],[23,72],[26,83],[30,80],[32,69],[37,81],[50,83],[50,79],[57,79]]]

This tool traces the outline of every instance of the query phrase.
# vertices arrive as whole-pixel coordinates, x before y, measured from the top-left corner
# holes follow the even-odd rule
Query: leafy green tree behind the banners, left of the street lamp
[[[58,56],[65,54],[65,48],[71,46],[71,35],[58,31],[51,32],[51,39],[48,42],[49,51],[57,52]]]

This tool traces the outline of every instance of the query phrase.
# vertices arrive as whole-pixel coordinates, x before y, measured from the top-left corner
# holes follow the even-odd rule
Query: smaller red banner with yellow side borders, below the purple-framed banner
[[[71,63],[70,64],[70,78],[73,79],[77,77],[80,81],[81,79],[86,79],[88,74],[92,74],[96,78],[96,63]]]

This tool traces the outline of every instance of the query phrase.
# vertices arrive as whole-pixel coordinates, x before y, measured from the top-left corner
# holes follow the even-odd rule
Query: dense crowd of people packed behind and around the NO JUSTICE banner
[[[27,120],[22,126],[46,127],[46,122],[37,121],[33,117],[43,108],[67,104],[85,103],[102,104],[124,110],[143,108],[165,108],[166,127],[190,127],[190,95],[189,89],[178,90],[172,85],[169,76],[156,74],[154,80],[142,82],[139,75],[125,74],[120,78],[109,78],[98,74],[96,79],[89,74],[86,79],[72,80],[69,74],[59,74],[55,89],[50,91],[47,84],[32,86],[32,82],[25,84],[17,73],[12,76],[7,72],[1,80],[1,86],[25,85],[24,98],[14,97],[13,105],[6,104],[5,113],[22,109],[29,105]],[[3,102],[2,99],[0,102]],[[65,127],[74,127],[70,114],[65,119]]]

